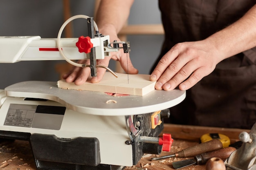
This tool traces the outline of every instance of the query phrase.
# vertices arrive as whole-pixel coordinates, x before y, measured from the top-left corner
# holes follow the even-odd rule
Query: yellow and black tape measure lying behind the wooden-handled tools
[[[219,139],[222,143],[223,148],[227,148],[230,145],[230,139],[226,135],[220,133],[207,133],[201,136],[201,143],[210,141],[212,139]]]

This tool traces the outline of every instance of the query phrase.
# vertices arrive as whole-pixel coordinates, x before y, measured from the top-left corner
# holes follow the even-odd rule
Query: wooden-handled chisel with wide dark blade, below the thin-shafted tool
[[[173,168],[180,169],[190,165],[202,165],[206,163],[212,157],[218,157],[220,159],[227,159],[229,155],[234,152],[236,148],[228,147],[215,150],[213,152],[207,152],[200,155],[196,155],[193,159],[186,159],[183,161],[173,162]]]

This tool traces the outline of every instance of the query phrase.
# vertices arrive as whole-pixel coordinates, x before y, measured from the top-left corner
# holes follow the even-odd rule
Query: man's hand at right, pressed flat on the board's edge
[[[209,75],[222,57],[207,41],[176,44],[159,61],[150,75],[155,88],[170,91],[179,86],[187,90]]]

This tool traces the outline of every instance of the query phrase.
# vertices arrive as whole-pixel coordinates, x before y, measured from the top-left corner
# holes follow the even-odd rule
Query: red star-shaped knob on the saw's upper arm
[[[78,42],[76,42],[76,46],[78,47],[78,51],[80,53],[83,53],[83,52],[90,53],[91,48],[93,47],[93,44],[91,42],[90,37],[81,36],[78,38]]]

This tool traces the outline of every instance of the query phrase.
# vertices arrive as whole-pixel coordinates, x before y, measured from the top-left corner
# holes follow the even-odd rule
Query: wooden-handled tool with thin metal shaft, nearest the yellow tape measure
[[[218,139],[213,139],[211,141],[207,141],[207,142],[198,144],[196,146],[186,148],[186,149],[181,150],[173,155],[166,155],[166,156],[162,156],[162,157],[151,158],[151,161],[157,161],[160,159],[166,159],[166,158],[170,158],[170,157],[180,157],[180,158],[194,157],[195,155],[199,155],[199,154],[206,153],[206,152],[211,152],[214,150],[218,150],[220,148],[223,148],[222,142]]]

